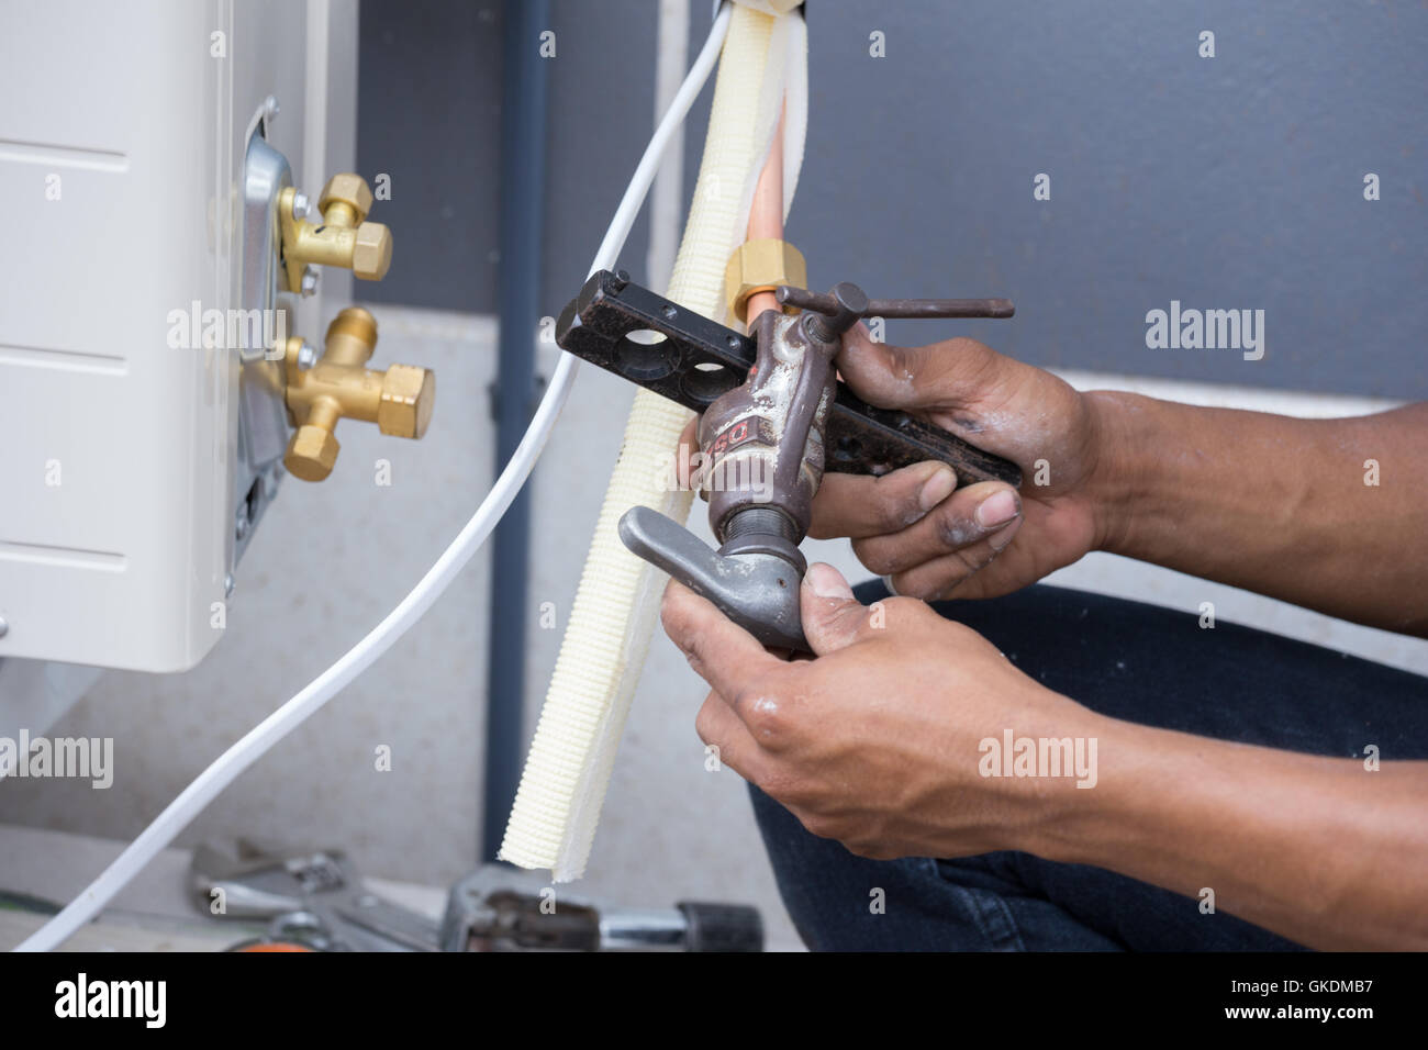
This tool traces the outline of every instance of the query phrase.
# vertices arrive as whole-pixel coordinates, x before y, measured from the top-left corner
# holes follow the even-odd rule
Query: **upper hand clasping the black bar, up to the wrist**
[[[1022,484],[1020,494],[1001,481],[952,491],[944,463],[825,474],[810,536],[851,537],[864,566],[920,599],[1007,594],[1098,546],[1094,396],[971,339],[902,349],[874,343],[861,324],[843,336],[837,364],[868,404],[907,410],[1011,460]]]

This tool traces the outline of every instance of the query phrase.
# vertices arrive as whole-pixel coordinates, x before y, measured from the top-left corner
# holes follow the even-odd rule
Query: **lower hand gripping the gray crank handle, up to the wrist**
[[[810,567],[801,604],[817,659],[793,663],[678,583],[661,619],[714,690],[700,737],[814,834],[877,859],[1032,849],[1094,794],[1070,777],[980,773],[981,741],[1007,730],[1090,739],[1105,720],[971,629],[912,599],[864,607],[825,564]]]

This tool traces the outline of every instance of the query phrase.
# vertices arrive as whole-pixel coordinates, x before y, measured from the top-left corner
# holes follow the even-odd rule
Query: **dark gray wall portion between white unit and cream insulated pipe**
[[[554,0],[550,9],[557,49],[541,284],[544,313],[555,316],[580,289],[650,139],[655,4]],[[364,173],[393,173],[381,207],[400,253],[373,301],[496,311],[503,13],[498,0],[363,0],[357,159]],[[625,263],[641,279],[647,240],[641,217]]]

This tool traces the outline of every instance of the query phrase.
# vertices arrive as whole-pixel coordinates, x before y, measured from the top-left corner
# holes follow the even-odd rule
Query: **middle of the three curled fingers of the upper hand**
[[[957,556],[967,573],[991,561],[1015,536],[1021,497],[1002,481],[980,481],[960,489],[911,527],[857,539],[858,560],[878,576],[892,576],[900,594],[918,594],[902,576],[928,561]]]

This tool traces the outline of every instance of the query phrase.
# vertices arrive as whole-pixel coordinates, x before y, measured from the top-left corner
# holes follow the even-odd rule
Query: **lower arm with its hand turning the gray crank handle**
[[[814,834],[875,859],[1024,850],[1187,909],[1210,887],[1217,910],[1309,947],[1428,949],[1428,763],[1369,771],[1110,719],[920,601],[860,606],[827,566],[801,600],[814,660],[765,653],[678,584],[663,621],[713,689],[700,736]],[[1091,786],[982,776],[1007,731],[1095,740]]]

